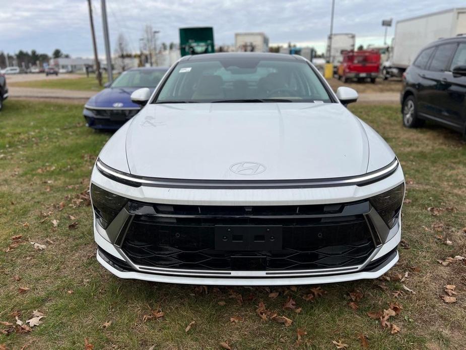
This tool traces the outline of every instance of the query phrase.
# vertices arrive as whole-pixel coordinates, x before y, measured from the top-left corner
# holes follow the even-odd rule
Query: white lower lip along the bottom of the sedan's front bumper
[[[172,276],[142,272],[121,272],[110,266],[97,253],[97,261],[108,271],[119,278],[139,279],[150,282],[179,283],[179,284],[202,284],[202,285],[292,285],[292,284],[323,284],[347,282],[359,279],[378,278],[387,272],[398,261],[398,252],[395,257],[387,262],[382,268],[375,272],[355,272],[331,276],[313,277],[274,277],[274,278],[216,278],[216,277],[188,277]]]

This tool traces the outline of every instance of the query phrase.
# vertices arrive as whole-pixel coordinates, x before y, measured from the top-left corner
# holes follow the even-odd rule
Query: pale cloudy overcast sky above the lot
[[[93,0],[99,56],[104,54],[100,0]],[[465,6],[464,0],[336,0],[334,32],[356,34],[356,43],[383,43],[381,20],[393,21]],[[0,51],[20,49],[92,56],[86,0],[0,0]],[[107,0],[112,52],[119,33],[133,51],[146,24],[158,42],[178,42],[178,28],[212,26],[216,44],[233,44],[235,32],[261,31],[271,44],[291,41],[323,51],[331,0]],[[394,25],[394,23],[393,23]],[[394,26],[388,36],[393,35]]]

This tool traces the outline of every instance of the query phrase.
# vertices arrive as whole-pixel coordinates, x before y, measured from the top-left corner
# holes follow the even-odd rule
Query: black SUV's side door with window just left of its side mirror
[[[456,42],[438,45],[423,77],[428,81],[425,92],[425,113],[430,119],[451,127],[457,125],[453,124],[450,118],[448,89],[451,84],[447,79],[447,71],[450,69],[449,65],[457,46]]]

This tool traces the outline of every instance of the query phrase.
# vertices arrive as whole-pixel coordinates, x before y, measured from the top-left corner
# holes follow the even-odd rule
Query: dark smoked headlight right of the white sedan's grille
[[[390,191],[379,194],[370,199],[370,203],[377,210],[380,217],[385,221],[389,228],[392,228],[403,203],[403,196],[405,195],[405,184],[396,186]]]

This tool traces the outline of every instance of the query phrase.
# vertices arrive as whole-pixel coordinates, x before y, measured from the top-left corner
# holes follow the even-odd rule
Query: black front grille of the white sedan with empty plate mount
[[[375,249],[364,217],[368,202],[305,206],[128,202],[125,209],[131,223],[121,249],[140,266],[207,271],[328,269],[360,265]]]

